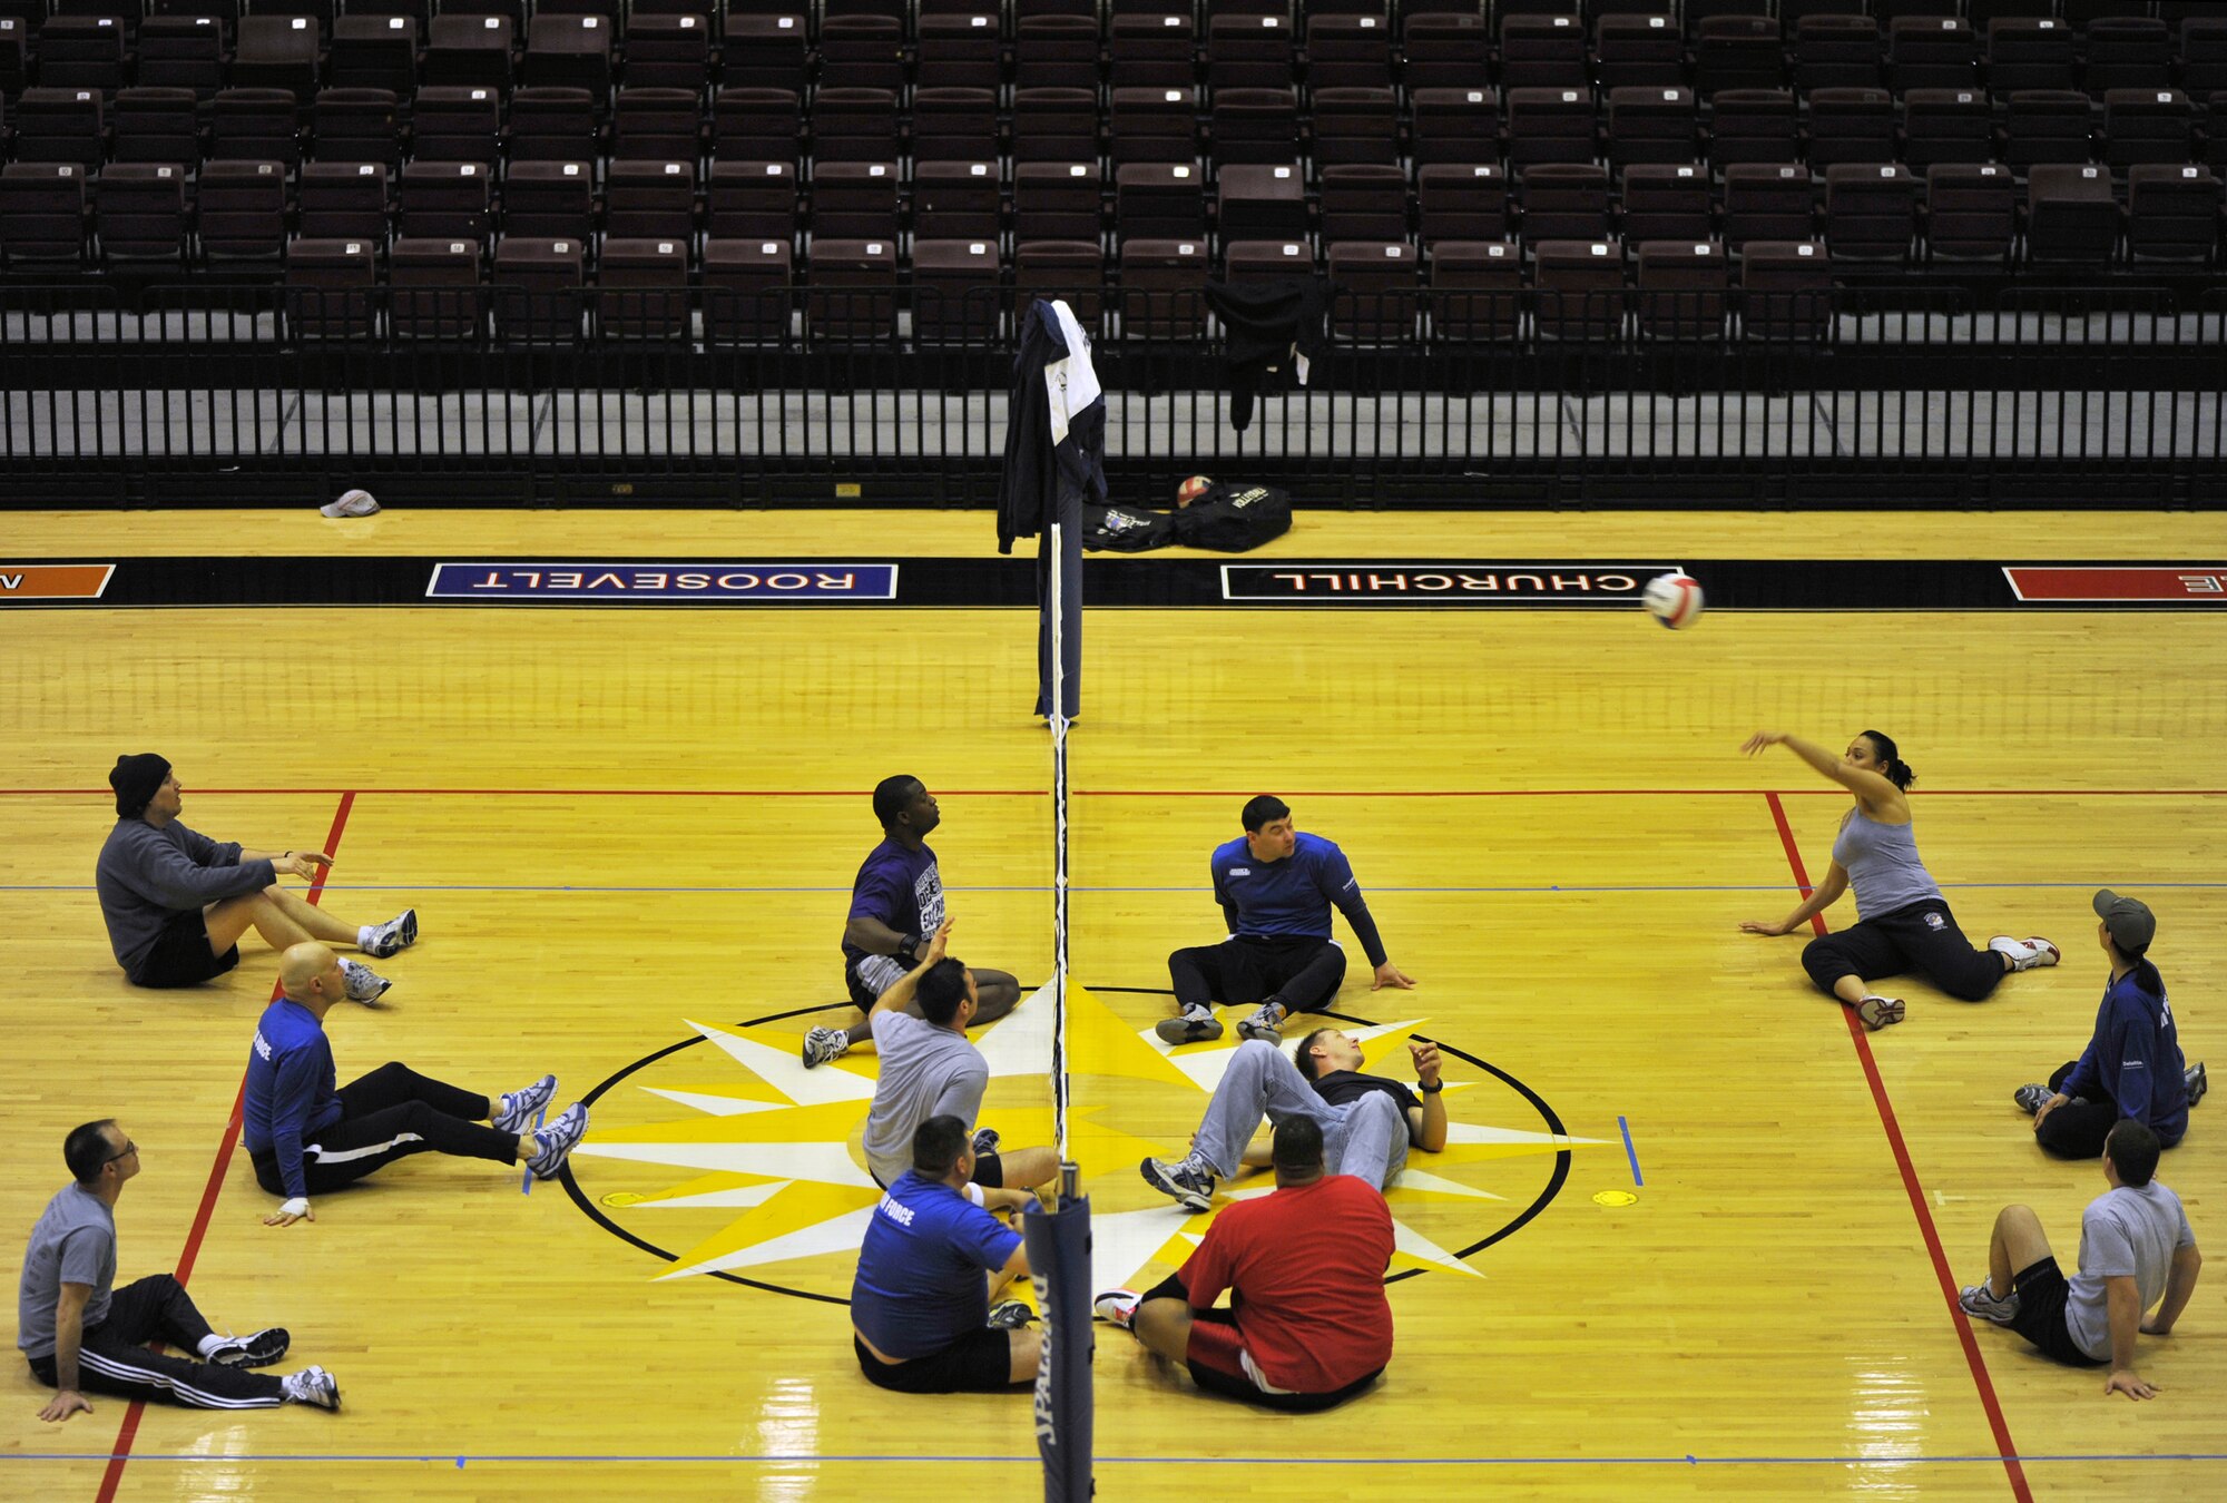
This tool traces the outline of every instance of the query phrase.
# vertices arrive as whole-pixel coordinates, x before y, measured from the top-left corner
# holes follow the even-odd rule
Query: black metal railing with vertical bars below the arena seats
[[[9,287],[0,501],[984,503],[1056,292]],[[1125,485],[2196,503],[2227,472],[2218,289],[1338,289],[1305,387],[1234,370],[1196,287],[1067,296]]]

